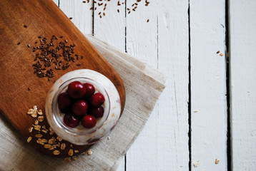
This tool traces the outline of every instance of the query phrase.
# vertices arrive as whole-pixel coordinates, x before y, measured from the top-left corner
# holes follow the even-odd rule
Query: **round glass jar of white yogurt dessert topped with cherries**
[[[89,69],[61,76],[46,97],[46,118],[54,132],[75,145],[107,136],[117,124],[121,102],[114,84]]]

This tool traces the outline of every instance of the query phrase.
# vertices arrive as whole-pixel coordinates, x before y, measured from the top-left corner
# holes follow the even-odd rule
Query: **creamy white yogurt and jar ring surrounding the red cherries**
[[[58,108],[58,95],[67,91],[69,83],[79,81],[90,83],[95,88],[95,93],[104,95],[104,115],[97,118],[94,128],[84,128],[81,124],[76,128],[69,128],[64,124],[64,113]],[[54,132],[62,139],[72,142],[75,145],[89,145],[109,135],[117,124],[121,114],[121,101],[117,88],[106,76],[89,69],[71,71],[61,76],[49,90],[46,97],[46,119]]]

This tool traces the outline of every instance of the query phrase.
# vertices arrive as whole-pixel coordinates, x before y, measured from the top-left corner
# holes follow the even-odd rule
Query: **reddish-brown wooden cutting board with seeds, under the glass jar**
[[[61,41],[69,47],[75,44],[74,53],[72,53],[74,62],[64,61],[64,57],[60,56],[59,59],[63,61],[61,66],[69,63],[69,68],[63,70],[61,66],[58,66],[61,69],[56,70],[54,63],[51,63],[52,66],[49,68],[53,68],[54,77],[39,78],[34,73],[32,65],[36,63],[34,61],[36,53],[41,53],[41,50],[33,49],[33,47],[40,46],[41,42],[43,44],[44,42],[50,43],[51,38],[54,39],[54,46],[57,46]],[[79,56],[78,60],[75,55]],[[37,61],[39,60],[37,59]],[[44,113],[46,95],[54,81],[64,73],[82,68],[98,71],[114,83],[121,97],[123,110],[125,90],[118,73],[53,1],[0,1],[0,110],[26,140],[30,136],[32,137],[29,142],[31,145],[45,154],[52,155],[53,151],[59,147],[48,150],[44,148],[44,145],[36,142],[38,139],[34,137],[36,134],[40,133],[44,135],[42,138],[48,140],[51,139],[52,135],[49,135],[50,131],[41,133],[41,131],[32,130],[29,133],[29,128],[34,124],[36,118],[32,118],[26,113],[33,105],[37,105],[37,108]],[[46,118],[39,124],[45,125],[46,130],[49,129]],[[56,145],[57,142],[59,141],[56,140]],[[63,142],[64,140],[61,140],[59,144]],[[79,152],[87,149],[87,146],[74,145],[70,147],[72,145],[69,142],[64,143],[66,145],[65,150],[61,150],[61,153],[56,156],[68,156],[69,149],[79,150]]]

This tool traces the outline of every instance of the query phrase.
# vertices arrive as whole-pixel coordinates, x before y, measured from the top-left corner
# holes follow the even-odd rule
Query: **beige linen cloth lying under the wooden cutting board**
[[[164,90],[166,77],[93,36],[87,38],[119,73],[127,93],[124,113],[110,139],[93,145],[92,155],[79,155],[77,160],[67,163],[63,158],[36,151],[0,115],[0,170],[117,170],[119,161],[141,132]]]

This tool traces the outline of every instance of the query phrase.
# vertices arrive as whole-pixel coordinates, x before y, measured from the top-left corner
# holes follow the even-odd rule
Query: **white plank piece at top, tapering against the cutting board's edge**
[[[72,22],[80,31],[92,34],[92,1],[82,3],[77,0],[59,0],[59,8],[64,11],[67,17],[72,17]]]

